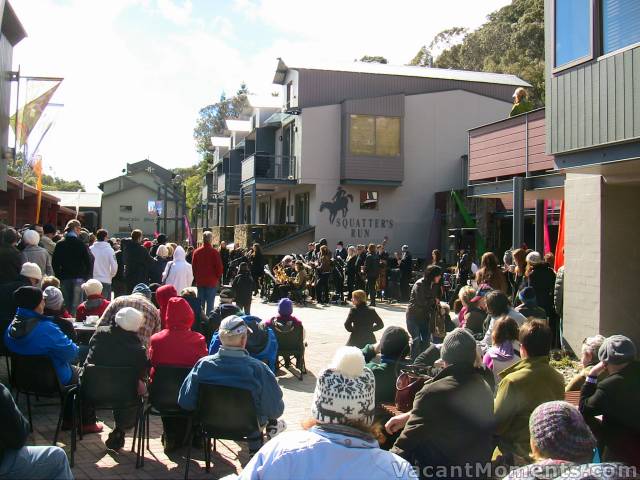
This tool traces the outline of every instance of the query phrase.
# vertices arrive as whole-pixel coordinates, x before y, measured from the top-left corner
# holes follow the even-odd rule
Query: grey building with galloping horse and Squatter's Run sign
[[[513,75],[282,60],[274,83],[283,108],[254,112],[217,165],[218,223],[239,224],[236,241],[274,254],[313,238],[387,238],[423,257],[436,192],[465,186],[467,130],[506,117],[514,89],[528,86]]]

